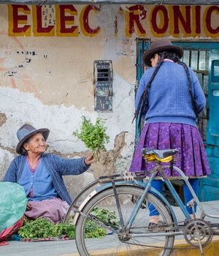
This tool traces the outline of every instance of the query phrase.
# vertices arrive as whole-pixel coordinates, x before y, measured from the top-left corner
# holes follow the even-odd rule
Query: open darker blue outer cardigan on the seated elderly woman
[[[13,159],[11,165],[3,178],[3,181],[17,182],[24,170],[26,156],[18,156]],[[62,200],[71,204],[72,199],[64,184],[62,176],[79,175],[84,173],[90,165],[85,165],[85,158],[64,159],[55,154],[42,154],[42,163],[52,177],[54,187]]]

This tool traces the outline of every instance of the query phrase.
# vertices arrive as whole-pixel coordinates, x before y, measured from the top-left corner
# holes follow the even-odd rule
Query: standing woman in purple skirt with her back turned
[[[130,171],[150,170],[154,164],[142,159],[142,148],[179,150],[176,166],[180,167],[196,195],[198,178],[210,174],[204,143],[197,128],[199,113],[206,100],[198,78],[191,68],[180,61],[183,49],[169,39],[158,39],[150,45],[142,59],[147,69],[142,75],[136,97],[134,117],[145,118],[145,127],[134,152]],[[165,165],[165,164],[164,164]],[[165,170],[166,176],[179,178],[177,171]],[[162,191],[164,181],[155,180],[152,186]],[[188,187],[183,186],[185,206],[192,199]],[[188,208],[188,207],[187,207]],[[150,210],[150,225],[158,222],[158,212]],[[188,212],[192,214],[191,208]]]

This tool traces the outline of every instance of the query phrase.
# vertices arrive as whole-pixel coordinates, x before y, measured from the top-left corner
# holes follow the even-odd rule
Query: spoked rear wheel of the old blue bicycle
[[[136,206],[133,203],[133,198],[136,200],[142,195],[143,189],[133,186],[120,186],[116,187],[118,192],[118,198],[120,201],[120,207],[123,214],[123,220],[126,225],[131,212]],[[159,213],[159,223],[157,227],[151,229],[149,224],[149,210],[148,203],[152,204]],[[113,227],[115,232],[111,234],[109,229],[105,228],[105,236],[102,238],[87,238],[88,227],[91,226],[91,217],[96,208],[104,209],[104,211],[114,211],[115,218],[104,218],[104,223],[109,227]],[[172,225],[172,217],[169,214],[164,203],[151,193],[147,193],[142,208],[140,208],[137,216],[131,225],[130,230],[127,231],[127,237],[120,236],[119,232],[120,218],[118,214],[118,208],[115,201],[115,195],[113,189],[106,189],[100,192],[95,197],[91,198],[85,207],[82,209],[83,214],[77,219],[76,225],[76,244],[78,252],[81,256],[100,256],[100,255],[158,255],[169,256],[174,244],[174,236],[165,236],[168,232],[165,227]],[[90,215],[89,215],[90,214]],[[95,214],[94,214],[95,215]],[[90,216],[90,217],[89,217]],[[98,217],[101,219],[101,217]],[[95,223],[95,225],[97,225]],[[94,227],[94,230],[101,230],[102,227]],[[102,229],[103,230],[103,229]],[[153,236],[154,234],[164,233],[163,236]],[[143,235],[147,234],[147,237]],[[152,236],[150,236],[152,235]]]

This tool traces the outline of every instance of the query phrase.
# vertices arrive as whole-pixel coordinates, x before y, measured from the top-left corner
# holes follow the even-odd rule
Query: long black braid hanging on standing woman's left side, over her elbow
[[[158,55],[161,56],[161,59],[158,62],[158,65],[155,67],[155,70],[154,70],[153,74],[151,75],[150,80],[147,83],[145,91],[143,92],[142,96],[139,99],[139,105],[137,106],[137,110],[134,113],[134,118],[133,118],[132,122],[139,115],[139,124],[140,124],[142,116],[145,116],[145,114],[147,112],[147,107],[148,107],[147,91],[150,89],[151,83],[153,82],[155,75],[157,74],[161,65],[164,63],[164,59],[165,59],[165,52],[158,53]],[[138,126],[139,126],[139,124],[138,124]]]

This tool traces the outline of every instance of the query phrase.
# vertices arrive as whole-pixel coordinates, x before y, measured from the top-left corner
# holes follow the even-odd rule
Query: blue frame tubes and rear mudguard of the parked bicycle
[[[169,208],[169,211],[172,215],[172,219],[173,219],[173,222],[176,223],[177,222],[177,218],[174,214],[174,211],[173,211],[173,208],[172,206],[169,204],[168,200],[166,200],[166,198],[164,197],[164,195],[162,195],[160,192],[158,192],[156,189],[154,189],[153,187],[151,187],[151,183],[153,181],[153,179],[155,179],[155,176],[157,176],[158,173],[161,174],[161,177],[164,179],[164,183],[166,184],[166,186],[169,188],[169,191],[171,192],[172,196],[174,197],[174,199],[176,200],[176,202],[178,203],[178,205],[180,206],[180,209],[181,211],[183,212],[183,214],[185,215],[185,218],[190,220],[191,219],[191,216],[190,214],[188,213],[187,209],[185,208],[182,200],[180,199],[179,195],[177,194],[176,190],[174,189],[172,183],[169,181],[169,178],[166,177],[166,174],[164,173],[164,169],[166,168],[169,168],[170,165],[165,165],[165,166],[161,166],[160,163],[157,163],[157,166],[150,171],[151,173],[151,176],[150,178],[147,180],[147,183],[145,182],[142,182],[142,181],[137,181],[137,180],[132,180],[132,179],[127,179],[127,180],[123,180],[123,181],[109,181],[103,185],[101,185],[101,187],[98,187],[96,189],[93,190],[93,192],[91,192],[90,195],[88,195],[88,197],[85,198],[85,200],[82,202],[82,204],[80,205],[79,208],[74,208],[74,202],[72,203],[72,205],[70,206],[70,208],[74,209],[74,211],[76,211],[76,214],[74,216],[74,224],[77,223],[77,219],[78,217],[80,216],[80,214],[82,214],[82,209],[84,208],[85,204],[88,203],[88,200],[91,200],[92,197],[94,197],[95,195],[97,195],[98,193],[102,192],[104,189],[108,189],[110,187],[113,187],[114,189],[114,192],[115,192],[115,199],[116,199],[116,203],[117,203],[117,207],[118,207],[118,211],[119,211],[119,216],[120,216],[120,223],[122,225],[122,229],[125,230],[125,229],[128,229],[131,227],[131,225],[133,224],[134,222],[134,219],[135,217],[137,216],[137,213],[139,211],[139,209],[141,208],[142,206],[142,203],[145,199],[145,196],[147,195],[148,192],[151,192],[153,195],[157,196],[159,199],[161,199],[164,204],[167,206],[167,208]],[[180,168],[174,166],[173,167],[174,170],[176,170],[178,173],[180,173],[180,176],[182,176],[183,178],[183,181],[185,181],[185,184],[188,186],[188,189],[190,190],[191,192],[191,195],[193,195],[193,198],[194,200],[196,201],[197,203],[197,206],[199,207],[199,209],[201,210],[201,217],[200,219],[204,219],[204,217],[211,217],[211,218],[217,218],[219,219],[219,216],[217,215],[210,215],[210,214],[206,214],[204,212],[204,208],[201,206],[201,203],[199,202],[199,199],[198,197],[196,196],[195,192],[193,191],[193,188],[191,187],[191,184],[189,183],[188,181],[188,176],[185,176],[185,174],[183,173],[182,170],[180,170]],[[96,185],[99,183],[99,180],[96,180],[96,181],[93,181],[92,184],[88,185],[88,187],[86,187],[81,193],[80,195],[83,194],[83,192],[89,188],[91,189],[92,186]],[[123,186],[123,185],[132,185],[132,186],[137,186],[137,187],[142,187],[142,189],[144,189],[144,192],[142,194],[142,196],[139,198],[134,210],[131,212],[131,216],[130,218],[128,219],[128,222],[125,224],[123,222],[123,216],[122,216],[122,213],[120,212],[120,203],[118,201],[118,197],[117,197],[117,192],[116,192],[116,187],[118,186]],[[80,196],[78,196],[80,197]],[[76,198],[75,201],[78,200],[78,197]],[[68,214],[69,215],[69,211],[68,211]],[[104,227],[104,223],[103,223],[103,227]],[[110,229],[109,227],[107,227],[108,229]],[[177,229],[177,227],[175,227],[175,229]],[[116,232],[115,232],[116,233]],[[139,235],[134,235],[134,236],[172,236],[174,234],[174,236],[177,236],[177,235],[182,235],[183,234],[183,231],[174,231],[174,232],[169,232],[169,233],[154,233],[153,234],[139,234]]]

